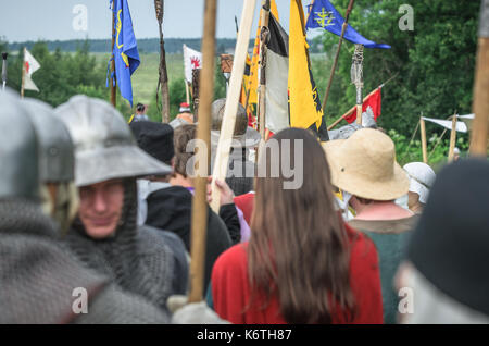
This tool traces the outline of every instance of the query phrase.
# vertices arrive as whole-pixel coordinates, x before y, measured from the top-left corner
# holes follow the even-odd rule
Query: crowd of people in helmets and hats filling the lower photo
[[[0,323],[489,323],[489,161],[402,168],[367,113],[264,141],[239,106],[187,304],[198,119],[136,108],[0,94]]]

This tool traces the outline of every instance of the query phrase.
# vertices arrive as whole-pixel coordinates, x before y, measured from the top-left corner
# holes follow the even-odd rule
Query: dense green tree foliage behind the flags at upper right
[[[334,5],[344,15],[348,2],[336,0]],[[422,112],[432,118],[471,112],[480,2],[412,1],[413,32],[399,29],[404,13],[398,11],[403,3],[355,2],[349,24],[364,37],[392,47],[365,49],[364,96],[397,75],[383,88],[379,125],[409,136]],[[326,55],[333,60],[338,36],[325,32],[322,38]],[[340,116],[355,102],[355,88],[350,83],[353,50],[353,44],[343,41],[326,107],[328,116]],[[325,84],[318,74],[314,76],[319,95],[324,95]],[[329,76],[329,72],[323,76]]]

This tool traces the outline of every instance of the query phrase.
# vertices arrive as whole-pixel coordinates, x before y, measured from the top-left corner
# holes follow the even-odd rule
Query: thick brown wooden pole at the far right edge
[[[479,21],[476,73],[474,82],[475,114],[471,133],[471,156],[487,157],[489,131],[489,0],[482,0]]]

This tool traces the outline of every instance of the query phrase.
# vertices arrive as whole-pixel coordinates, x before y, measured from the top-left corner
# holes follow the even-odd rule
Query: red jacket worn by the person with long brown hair
[[[355,298],[353,323],[383,323],[383,296],[377,250],[368,237],[344,225],[351,244],[350,284]],[[248,243],[238,244],[223,252],[212,271],[212,296],[217,314],[239,324],[286,323],[278,298],[273,296],[266,309],[259,309],[265,299],[250,300],[248,280]],[[334,323],[344,323],[341,314],[333,316]]]

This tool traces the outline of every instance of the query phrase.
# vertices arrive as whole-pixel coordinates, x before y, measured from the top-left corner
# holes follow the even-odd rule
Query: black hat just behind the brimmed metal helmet
[[[139,148],[153,158],[171,164],[175,155],[172,126],[156,122],[133,122],[129,126]]]

